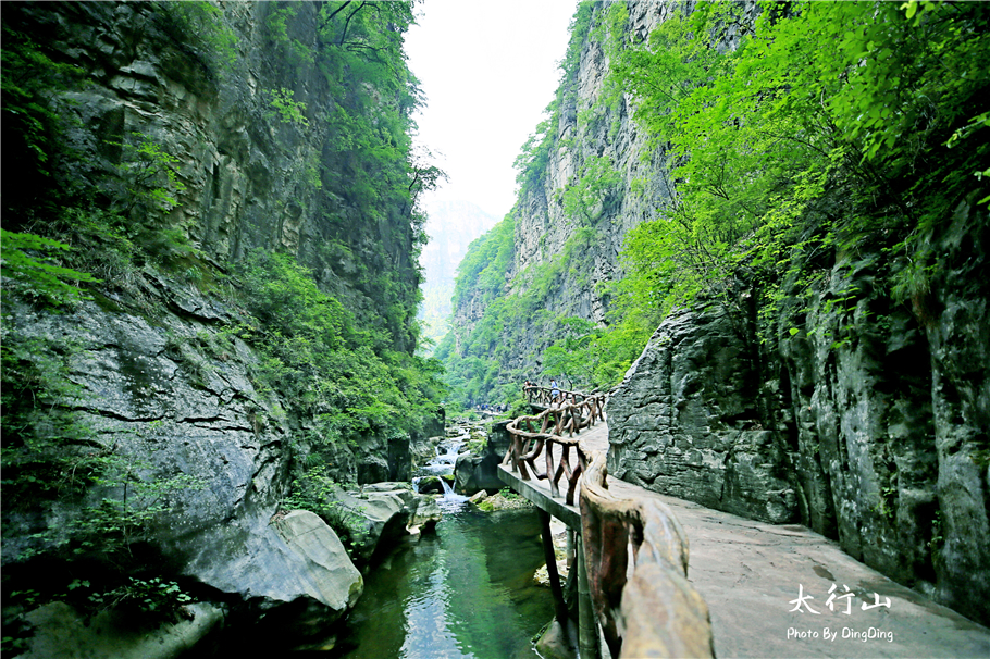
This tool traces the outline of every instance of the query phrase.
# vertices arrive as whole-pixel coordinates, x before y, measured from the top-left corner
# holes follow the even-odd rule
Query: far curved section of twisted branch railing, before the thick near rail
[[[574,433],[604,421],[604,396],[587,396],[582,402],[565,403],[535,416],[512,420],[506,426],[512,442],[503,464],[511,464],[512,471],[518,472],[523,481],[531,478],[531,472],[533,477],[548,480],[555,497],[560,496],[560,478],[564,477],[567,482],[564,500],[573,506],[578,481],[589,462],[589,457],[574,439]],[[568,437],[564,437],[565,433]],[[545,465],[543,471],[536,467],[541,455]]]

